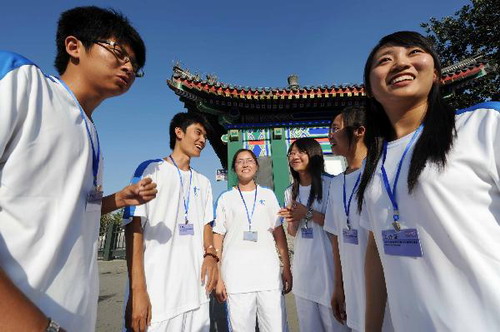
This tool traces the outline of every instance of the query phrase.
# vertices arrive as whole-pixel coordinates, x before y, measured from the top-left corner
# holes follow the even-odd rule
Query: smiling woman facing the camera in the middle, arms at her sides
[[[227,299],[234,331],[254,332],[256,317],[260,331],[286,331],[282,291],[291,290],[292,274],[279,203],[272,190],[255,183],[259,165],[252,151],[238,150],[232,168],[238,184],[217,200],[213,228],[221,258],[217,299]]]

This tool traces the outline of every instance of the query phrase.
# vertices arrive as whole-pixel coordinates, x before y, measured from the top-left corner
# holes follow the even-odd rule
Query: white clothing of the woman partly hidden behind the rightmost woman
[[[361,170],[346,174],[346,203],[349,202],[354,185]],[[358,184],[359,187],[359,184]],[[347,312],[347,326],[358,331],[365,329],[365,252],[368,242],[368,230],[360,227],[357,209],[356,192],[353,193],[349,223],[352,230],[357,231],[358,244],[344,241],[343,230],[347,229],[347,217],[344,210],[344,175],[340,174],[332,180],[330,197],[325,214],[324,230],[338,237],[342,276]]]

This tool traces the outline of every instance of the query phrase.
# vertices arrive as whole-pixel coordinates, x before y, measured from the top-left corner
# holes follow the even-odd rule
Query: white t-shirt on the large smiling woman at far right
[[[392,205],[380,163],[365,192],[361,223],[375,236],[396,331],[500,328],[498,110],[500,103],[490,102],[459,111],[446,168],[427,164],[411,195],[407,177],[413,147],[409,150],[396,195],[401,224],[417,229],[422,257],[384,253],[381,232],[392,229]],[[385,167],[391,185],[411,136],[388,144]]]

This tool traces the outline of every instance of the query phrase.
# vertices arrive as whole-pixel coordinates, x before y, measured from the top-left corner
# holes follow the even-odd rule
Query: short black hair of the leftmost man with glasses
[[[66,71],[70,58],[65,45],[68,36],[76,37],[87,50],[95,40],[114,37],[116,42],[128,45],[134,51],[138,69],[143,68],[146,63],[144,41],[129,20],[114,9],[76,7],[61,14],[57,24],[57,55],[54,61],[60,75]]]

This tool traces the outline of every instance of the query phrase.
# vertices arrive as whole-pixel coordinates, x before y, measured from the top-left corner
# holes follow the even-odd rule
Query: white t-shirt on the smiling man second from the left
[[[189,187],[189,171],[181,171]],[[162,159],[141,164],[133,182],[149,177],[158,185],[156,198],[129,208],[124,218],[141,217],[144,227],[144,272],[152,306],[152,322],[161,322],[196,309],[208,301],[201,280],[203,229],[213,221],[210,181],[192,170],[188,220],[194,235],[180,235],[185,224],[183,188],[177,168]],[[124,223],[131,220],[125,219]]]

